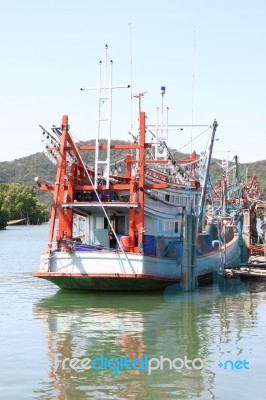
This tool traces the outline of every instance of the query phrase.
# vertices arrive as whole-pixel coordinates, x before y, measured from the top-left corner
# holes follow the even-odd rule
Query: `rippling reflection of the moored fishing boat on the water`
[[[50,380],[41,382],[36,398],[215,399],[217,363],[228,349],[237,356],[246,352],[243,339],[252,336],[250,328],[256,325],[264,290],[245,286],[232,294],[212,286],[168,298],[161,293],[59,291],[33,311],[43,327],[50,362]],[[166,366],[151,375],[137,370],[114,375],[110,370],[62,368],[65,358],[101,355],[211,361],[201,370],[170,371]]]

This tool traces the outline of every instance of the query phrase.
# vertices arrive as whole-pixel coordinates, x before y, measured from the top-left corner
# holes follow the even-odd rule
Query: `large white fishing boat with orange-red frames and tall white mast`
[[[41,190],[53,192],[53,203],[47,250],[33,275],[63,289],[146,291],[180,282],[193,288],[212,277],[225,258],[232,265],[240,256],[231,218],[219,217],[224,235],[218,244],[205,230],[211,152],[207,162],[195,151],[186,159],[176,158],[163,113],[160,124],[147,124],[143,93],[135,96],[139,129],[131,134],[133,143],[114,144],[112,91],[129,86],[114,86],[107,64],[106,48],[105,62],[99,64],[94,144],[75,142],[67,115],[51,132],[41,126],[57,172],[54,182],[35,178]],[[162,110],[164,94],[161,87]],[[103,125],[108,132],[104,138]],[[211,143],[217,125],[209,125]]]

